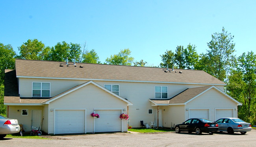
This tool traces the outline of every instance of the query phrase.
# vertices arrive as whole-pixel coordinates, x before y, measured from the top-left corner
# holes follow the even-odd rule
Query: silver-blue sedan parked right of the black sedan
[[[228,134],[233,134],[234,132],[245,134],[252,130],[252,125],[250,123],[239,118],[221,118],[215,122],[219,124],[218,131],[225,131],[228,132]]]

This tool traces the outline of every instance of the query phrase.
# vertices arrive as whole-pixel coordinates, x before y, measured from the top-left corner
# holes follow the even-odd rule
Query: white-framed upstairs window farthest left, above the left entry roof
[[[33,82],[32,97],[50,97],[50,83]]]

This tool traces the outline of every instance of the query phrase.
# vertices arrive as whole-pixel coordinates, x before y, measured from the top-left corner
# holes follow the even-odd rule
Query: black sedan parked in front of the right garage
[[[196,134],[202,134],[206,132],[213,134],[219,129],[218,123],[212,122],[204,118],[191,118],[187,119],[184,123],[175,125],[175,132],[196,132]]]

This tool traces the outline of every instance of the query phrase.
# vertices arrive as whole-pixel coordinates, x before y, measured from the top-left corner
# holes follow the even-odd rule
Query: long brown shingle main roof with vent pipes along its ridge
[[[182,70],[164,72],[165,68],[120,66],[108,64],[69,62],[35,61],[16,59],[17,76],[77,78],[77,79],[106,79],[125,81],[152,81],[170,83],[198,83],[210,85],[225,85],[222,81],[202,70]],[[63,66],[60,66],[63,64]],[[83,66],[83,68],[80,68]],[[180,74],[182,72],[182,74]]]

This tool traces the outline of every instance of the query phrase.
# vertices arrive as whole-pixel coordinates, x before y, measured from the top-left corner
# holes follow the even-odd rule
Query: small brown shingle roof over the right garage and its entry
[[[181,92],[180,94],[177,94],[176,96],[170,98],[170,99],[164,99],[164,100],[159,100],[159,99],[150,99],[154,103],[157,104],[184,104],[193,97],[197,96],[198,94],[204,92],[211,86],[203,86],[203,87],[197,87],[197,88],[188,88]]]

